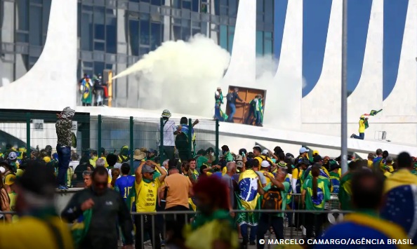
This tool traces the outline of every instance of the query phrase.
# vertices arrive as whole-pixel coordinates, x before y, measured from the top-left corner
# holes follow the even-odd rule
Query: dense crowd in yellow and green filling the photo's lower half
[[[294,156],[278,146],[270,151],[256,145],[234,153],[223,145],[217,158],[213,148],[196,152],[198,144],[185,146],[198,121],[189,127],[185,119],[176,126],[164,110],[161,155],[146,148],[130,155],[124,146],[119,154],[101,149],[100,155],[88,151],[79,159],[71,151],[67,129],[72,116],[68,107],[58,115],[56,154],[47,147],[27,156],[24,147],[10,147],[2,155],[1,211],[18,215],[0,214],[0,220],[12,224],[0,226],[0,248],[54,248],[53,243],[59,248],[117,248],[120,237],[127,249],[143,248],[147,241],[153,248],[264,248],[258,241],[265,236],[284,239],[285,229],[305,229],[303,238],[329,241],[416,239],[416,158],[405,152],[396,160],[382,149],[367,159],[350,156],[343,174],[340,157],[331,159],[305,147]],[[72,180],[81,179],[76,185],[84,189],[60,214],[72,224],[69,230],[58,218],[53,195],[56,187],[65,191]],[[355,212],[336,225],[324,214],[331,194],[337,194],[340,210]],[[18,232],[19,241],[11,240]]]

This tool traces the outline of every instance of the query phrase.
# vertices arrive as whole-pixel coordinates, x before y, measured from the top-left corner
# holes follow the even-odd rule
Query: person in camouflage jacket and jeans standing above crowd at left
[[[58,142],[56,144],[56,152],[58,154],[58,176],[56,177],[58,189],[67,190],[65,184],[65,173],[69,167],[69,159],[71,158],[71,144],[72,144],[72,117],[75,111],[69,107],[57,114],[58,121],[55,123],[56,135]]]

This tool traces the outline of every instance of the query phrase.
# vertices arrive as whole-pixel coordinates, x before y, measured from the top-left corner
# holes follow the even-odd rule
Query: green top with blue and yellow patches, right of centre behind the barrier
[[[317,178],[317,198],[313,196],[312,178],[305,180],[303,189],[305,189],[305,209],[324,210],[324,203],[330,200],[330,189],[327,182]]]

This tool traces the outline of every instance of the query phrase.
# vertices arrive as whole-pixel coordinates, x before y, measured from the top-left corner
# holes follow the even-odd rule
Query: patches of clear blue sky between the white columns
[[[275,0],[274,51],[279,58],[289,0]],[[290,0],[291,1],[291,0]],[[303,76],[310,93],[322,72],[332,0],[303,0]],[[384,1],[383,99],[397,79],[408,0],[348,1],[348,90],[355,90],[362,74],[372,1]]]

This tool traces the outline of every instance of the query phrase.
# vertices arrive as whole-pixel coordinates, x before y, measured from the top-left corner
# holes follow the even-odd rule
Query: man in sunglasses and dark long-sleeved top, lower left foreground
[[[133,248],[130,212],[119,192],[107,187],[108,175],[105,167],[95,168],[91,175],[91,187],[77,191],[62,211],[62,220],[72,223],[85,215],[86,210],[91,210],[88,231],[78,248],[117,249],[119,227],[126,243],[124,248]]]

